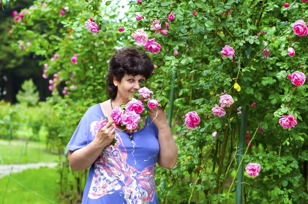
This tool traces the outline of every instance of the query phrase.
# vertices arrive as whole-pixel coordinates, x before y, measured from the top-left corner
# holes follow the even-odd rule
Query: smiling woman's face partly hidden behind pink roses
[[[113,77],[114,86],[118,87],[118,94],[121,98],[128,99],[133,97],[133,91],[140,88],[140,83],[145,82],[145,77],[142,75],[131,76],[125,73],[121,82],[118,82],[115,77]],[[118,97],[118,96],[117,96]]]

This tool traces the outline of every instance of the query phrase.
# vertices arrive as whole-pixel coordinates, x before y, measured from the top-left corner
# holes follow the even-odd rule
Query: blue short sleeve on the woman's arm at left
[[[88,124],[88,111],[87,111],[85,115],[82,117],[82,119],[80,120],[66,148],[71,151],[75,151],[75,150],[78,150],[78,149],[81,149],[87,146],[88,137],[90,134],[90,131],[88,130],[89,130],[89,124]]]

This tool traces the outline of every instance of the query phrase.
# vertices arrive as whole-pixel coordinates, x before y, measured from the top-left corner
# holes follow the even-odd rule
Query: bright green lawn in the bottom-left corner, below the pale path
[[[48,201],[35,193],[17,184],[15,181],[10,179],[8,184],[8,189],[4,197],[5,189],[9,180],[8,176],[0,179],[0,201],[4,198],[5,204],[50,204],[50,203],[60,203],[59,192],[60,186],[57,183],[59,180],[59,173],[56,169],[41,168],[25,170],[21,173],[12,174],[11,177],[21,184],[23,184],[28,189],[44,196],[51,201]]]

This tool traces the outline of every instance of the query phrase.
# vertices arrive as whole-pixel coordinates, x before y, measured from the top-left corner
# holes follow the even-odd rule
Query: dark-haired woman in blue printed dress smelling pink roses
[[[178,158],[166,112],[162,108],[149,109],[150,118],[133,133],[120,132],[121,127],[110,118],[112,109],[127,103],[152,71],[148,55],[137,48],[126,47],[113,54],[107,74],[110,100],[87,110],[67,145],[72,170],[91,166],[82,203],[158,203],[156,163],[172,169]],[[94,125],[101,117],[109,122],[95,131]],[[113,138],[117,143],[109,145]]]

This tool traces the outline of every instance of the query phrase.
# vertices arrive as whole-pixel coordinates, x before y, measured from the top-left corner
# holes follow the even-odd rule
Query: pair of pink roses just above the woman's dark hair
[[[132,38],[136,41],[138,46],[143,45],[144,48],[151,53],[159,52],[162,47],[159,43],[155,42],[155,38],[148,40],[148,35],[142,30],[132,33]]]

